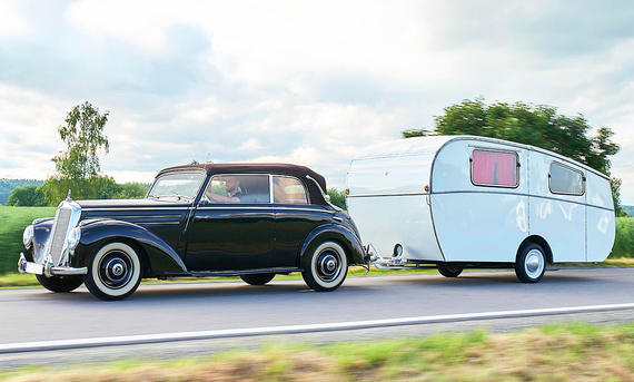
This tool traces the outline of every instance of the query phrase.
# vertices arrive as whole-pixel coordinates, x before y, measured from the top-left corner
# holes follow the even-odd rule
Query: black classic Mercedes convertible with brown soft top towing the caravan
[[[122,300],[141,278],[240,276],[264,285],[301,272],[334,291],[366,264],[357,228],[333,206],[326,180],[285,164],[200,164],[161,170],[143,199],[60,203],[24,229],[18,264],[52,292],[82,283]]]

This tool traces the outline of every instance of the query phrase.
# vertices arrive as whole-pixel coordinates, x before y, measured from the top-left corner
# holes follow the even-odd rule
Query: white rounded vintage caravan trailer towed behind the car
[[[557,263],[602,262],[614,243],[610,179],[499,139],[429,136],[368,147],[347,205],[377,267],[514,267],[536,283]]]

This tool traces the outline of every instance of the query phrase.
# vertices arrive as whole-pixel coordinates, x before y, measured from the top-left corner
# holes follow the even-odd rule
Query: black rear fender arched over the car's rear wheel
[[[335,241],[343,244],[344,249],[347,252],[349,264],[366,263],[363,245],[354,233],[340,225],[324,224],[314,228],[308,236],[306,236],[301,249],[299,251],[299,264],[304,264],[313,251],[325,241]]]

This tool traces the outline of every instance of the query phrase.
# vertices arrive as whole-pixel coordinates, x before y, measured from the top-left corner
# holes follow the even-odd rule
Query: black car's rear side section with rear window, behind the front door
[[[307,187],[296,177],[273,176],[275,203],[275,266],[299,267],[304,239],[315,227],[331,222],[333,210],[310,205]]]

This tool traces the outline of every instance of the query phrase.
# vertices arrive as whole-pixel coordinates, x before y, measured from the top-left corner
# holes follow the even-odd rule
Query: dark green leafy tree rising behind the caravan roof
[[[600,127],[591,136],[592,127],[577,115],[562,116],[557,109],[545,105],[524,102],[494,102],[486,105],[484,99],[464,100],[445,108],[435,118],[434,135],[475,135],[512,140],[545,148],[611,176],[610,156],[616,154],[618,145],[611,140],[608,127]],[[426,130],[403,131],[404,138],[429,135]],[[621,213],[621,180],[612,178],[615,213]]]

